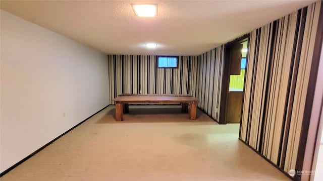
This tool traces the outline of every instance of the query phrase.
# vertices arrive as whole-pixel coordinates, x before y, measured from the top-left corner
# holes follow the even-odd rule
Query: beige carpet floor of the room
[[[116,122],[109,106],[11,170],[6,180],[288,180],[218,125],[178,106],[130,106]]]

